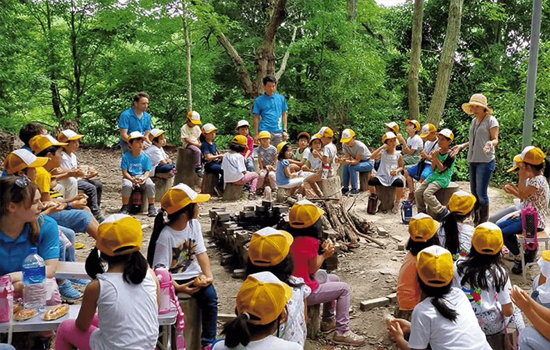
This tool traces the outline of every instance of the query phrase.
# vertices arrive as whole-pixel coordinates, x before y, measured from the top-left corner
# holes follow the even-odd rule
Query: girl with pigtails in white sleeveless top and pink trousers
[[[155,349],[160,288],[140,253],[142,238],[141,223],[131,216],[113,214],[99,225],[85,263],[92,281],[76,320],[60,324],[56,349]]]

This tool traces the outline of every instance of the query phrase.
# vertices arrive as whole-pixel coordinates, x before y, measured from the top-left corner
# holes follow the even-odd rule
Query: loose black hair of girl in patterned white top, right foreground
[[[466,259],[458,261],[456,264],[458,273],[463,274],[460,285],[481,290],[488,290],[494,287],[497,292],[504,290],[506,281],[508,281],[508,269],[502,261],[502,254],[481,254],[472,247]],[[487,281],[487,274],[492,279],[492,286]]]

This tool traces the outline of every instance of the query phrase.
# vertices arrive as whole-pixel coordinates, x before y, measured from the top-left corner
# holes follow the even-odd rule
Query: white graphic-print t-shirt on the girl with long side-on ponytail
[[[201,222],[193,219],[185,229],[176,231],[165,226],[160,232],[153,256],[153,268],[164,265],[174,279],[192,279],[202,273],[197,255],[206,252]]]

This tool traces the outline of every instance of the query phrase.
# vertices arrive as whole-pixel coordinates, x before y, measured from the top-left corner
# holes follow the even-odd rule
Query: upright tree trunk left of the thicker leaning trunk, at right
[[[412,16],[412,42],[410,43],[410,66],[408,77],[408,98],[410,119],[420,120],[418,96],[418,72],[420,70],[420,47],[422,46],[422,18],[424,0],[415,0],[415,13]]]

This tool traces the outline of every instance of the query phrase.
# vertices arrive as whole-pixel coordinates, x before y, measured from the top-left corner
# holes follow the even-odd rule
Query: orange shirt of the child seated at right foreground
[[[397,275],[397,302],[399,310],[412,310],[420,302],[417,277],[417,257],[407,253]]]

